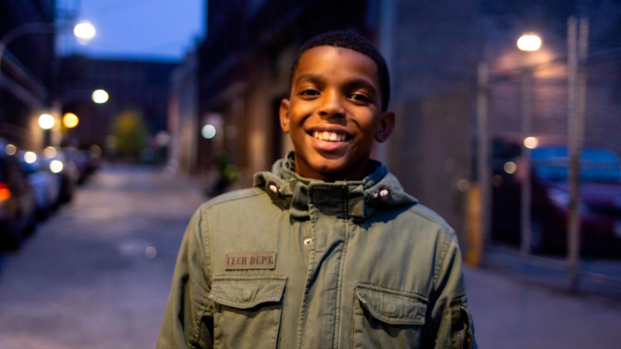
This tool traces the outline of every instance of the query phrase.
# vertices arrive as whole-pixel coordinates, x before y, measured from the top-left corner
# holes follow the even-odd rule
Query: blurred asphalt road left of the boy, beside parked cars
[[[153,348],[183,231],[204,201],[189,181],[107,166],[0,255],[0,348]]]

